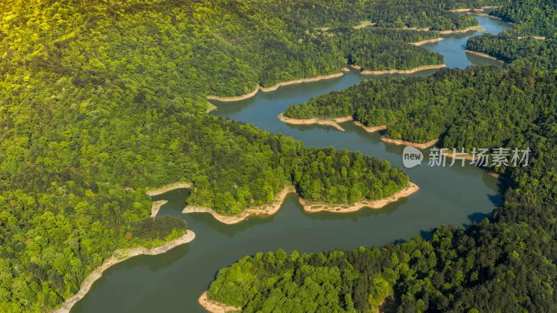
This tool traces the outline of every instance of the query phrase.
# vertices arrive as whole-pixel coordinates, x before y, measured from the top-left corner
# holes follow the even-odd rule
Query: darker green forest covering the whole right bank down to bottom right
[[[550,6],[547,8],[547,6]],[[517,1],[501,12],[553,12],[549,1]],[[535,26],[522,35],[555,34]],[[549,19],[551,20],[551,19]],[[553,22],[554,23],[554,22]],[[554,26],[555,24],[553,24]],[[551,40],[482,35],[469,48],[508,67],[441,69],[432,77],[364,81],[291,106],[287,115],[353,114],[409,141],[443,147],[529,147],[526,167],[501,166],[509,188],[482,223],[441,226],[383,248],[287,255],[258,253],[217,274],[210,298],[262,310],[548,312],[557,305],[557,72]]]

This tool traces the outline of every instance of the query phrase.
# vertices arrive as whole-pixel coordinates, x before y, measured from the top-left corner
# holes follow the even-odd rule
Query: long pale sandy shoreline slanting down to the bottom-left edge
[[[52,313],[69,313],[70,310],[72,310],[72,307],[75,305],[75,303],[81,300],[81,298],[83,298],[88,293],[88,291],[93,286],[93,283],[99,278],[101,278],[102,273],[106,271],[108,268],[110,268],[111,266],[123,262],[126,259],[130,259],[130,257],[135,257],[137,255],[162,254],[164,252],[167,252],[168,250],[171,250],[172,248],[175,248],[176,246],[189,243],[190,241],[194,240],[195,237],[196,234],[194,232],[192,232],[191,230],[186,230],[185,234],[183,234],[182,236],[176,239],[173,239],[172,241],[168,241],[167,243],[164,243],[162,246],[157,246],[150,249],[146,247],[125,248],[125,249],[119,249],[112,252],[111,257],[104,260],[101,266],[95,268],[95,270],[93,270],[89,275],[87,275],[85,280],[81,282],[81,287],[79,287],[79,291],[77,291],[77,293],[71,296],[70,298],[65,299],[61,307],[58,307],[58,309],[53,310]]]

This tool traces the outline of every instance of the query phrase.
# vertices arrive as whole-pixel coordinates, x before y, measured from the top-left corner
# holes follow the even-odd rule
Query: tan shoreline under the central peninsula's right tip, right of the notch
[[[407,198],[412,193],[415,193],[420,188],[413,182],[409,182],[407,186],[402,188],[400,191],[387,196],[386,198],[381,198],[378,200],[360,200],[352,204],[348,203],[329,203],[329,202],[309,202],[302,198],[299,198],[299,202],[304,206],[304,211],[308,213],[315,213],[320,211],[329,211],[332,213],[350,213],[358,211],[364,207],[370,209],[381,209],[391,202],[396,202],[400,198]],[[312,209],[315,207],[315,209]]]

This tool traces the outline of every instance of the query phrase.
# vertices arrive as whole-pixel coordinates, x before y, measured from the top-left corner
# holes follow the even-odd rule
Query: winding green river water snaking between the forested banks
[[[509,24],[489,17],[476,17],[489,33],[499,33]],[[444,35],[440,42],[423,45],[446,58],[448,67],[499,64],[489,58],[466,54],[470,35],[478,32]],[[431,74],[434,70],[410,75]],[[72,312],[205,312],[198,297],[214,280],[219,268],[229,266],[245,255],[278,250],[287,253],[318,252],[331,248],[383,246],[404,241],[416,234],[429,236],[441,224],[469,225],[489,216],[501,204],[503,184],[472,166],[464,168],[402,166],[402,146],[383,143],[379,134],[369,134],[352,122],[343,123],[346,131],[320,125],[286,125],[276,116],[290,104],[340,90],[363,79],[382,76],[347,72],[343,77],[313,83],[284,86],[271,93],[238,102],[214,102],[214,115],[242,122],[253,122],[261,129],[282,133],[304,142],[306,147],[334,146],[357,150],[388,160],[407,172],[420,191],[383,209],[362,209],[350,214],[320,212],[307,214],[294,194],[288,195],[281,210],[267,218],[250,218],[236,225],[224,225],[210,214],[181,214],[187,189],[159,195],[153,200],[168,200],[159,215],[179,215],[187,220],[196,239],[162,255],[133,257],[112,266],[97,280],[91,291],[74,305]],[[429,150],[423,150],[427,159]],[[450,160],[450,159],[449,159]]]

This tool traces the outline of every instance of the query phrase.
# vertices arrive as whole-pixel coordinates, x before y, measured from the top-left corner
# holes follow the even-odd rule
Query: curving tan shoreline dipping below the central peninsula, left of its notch
[[[249,218],[250,216],[270,216],[278,212],[278,209],[281,209],[281,206],[286,198],[288,193],[295,193],[296,189],[294,185],[287,184],[281,191],[278,191],[274,196],[274,199],[270,203],[261,204],[257,207],[248,207],[244,209],[244,211],[234,214],[234,215],[222,215],[214,211],[214,209],[210,207],[201,207],[197,205],[188,205],[182,210],[182,213],[210,213],[214,219],[218,220],[221,223],[225,223],[228,225],[236,224],[242,222]]]

